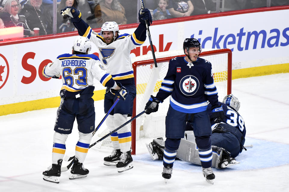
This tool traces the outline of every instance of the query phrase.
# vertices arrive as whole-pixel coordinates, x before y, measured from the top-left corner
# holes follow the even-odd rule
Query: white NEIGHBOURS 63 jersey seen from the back
[[[114,87],[115,81],[106,72],[96,55],[59,55],[53,63],[44,67],[45,77],[62,76],[62,89],[70,92],[80,91],[93,85],[93,78],[105,87]]]

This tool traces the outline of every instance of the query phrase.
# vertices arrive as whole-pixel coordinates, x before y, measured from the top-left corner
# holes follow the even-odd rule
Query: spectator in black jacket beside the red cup
[[[42,7],[42,0],[29,0],[20,12],[26,17],[28,27],[33,30],[39,28],[39,35],[52,33],[52,23]]]

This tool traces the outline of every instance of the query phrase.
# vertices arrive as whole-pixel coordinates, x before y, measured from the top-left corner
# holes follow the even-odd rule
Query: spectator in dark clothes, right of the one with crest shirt
[[[194,11],[191,15],[216,13],[216,3],[213,0],[191,0]]]

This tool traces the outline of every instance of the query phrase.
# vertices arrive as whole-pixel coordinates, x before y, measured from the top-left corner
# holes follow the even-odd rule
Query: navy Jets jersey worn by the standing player
[[[163,102],[170,95],[170,105],[183,113],[198,113],[218,102],[218,92],[212,77],[212,64],[203,59],[188,63],[185,57],[169,61],[166,77],[156,98]]]

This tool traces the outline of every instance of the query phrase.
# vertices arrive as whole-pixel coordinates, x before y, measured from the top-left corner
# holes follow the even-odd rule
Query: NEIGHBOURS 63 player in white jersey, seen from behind
[[[65,142],[72,132],[73,122],[76,118],[79,131],[79,140],[75,148],[75,158],[69,179],[86,177],[89,170],[83,167],[92,132],[95,129],[95,110],[93,95],[93,78],[125,100],[128,92],[126,88],[112,79],[104,70],[99,58],[89,55],[91,44],[88,38],[78,37],[73,43],[72,54],[59,55],[53,63],[46,65],[42,71],[43,76],[59,78],[62,76],[60,91],[61,103],[57,110],[54,125],[52,165],[43,172],[45,181],[59,183],[61,163],[65,153]]]

